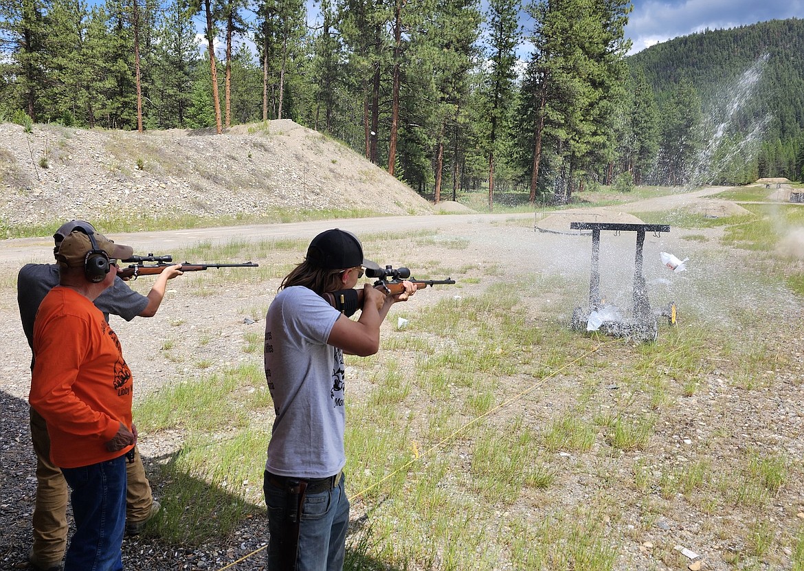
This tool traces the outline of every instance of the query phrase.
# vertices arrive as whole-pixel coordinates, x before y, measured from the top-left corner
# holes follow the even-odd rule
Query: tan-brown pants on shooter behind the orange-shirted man
[[[50,459],[50,436],[43,417],[31,409],[31,441],[36,453],[36,503],[32,557],[42,567],[57,565],[67,548],[68,486],[58,466]],[[125,517],[129,522],[146,520],[154,498],[139,450],[134,461],[126,462],[128,489]]]

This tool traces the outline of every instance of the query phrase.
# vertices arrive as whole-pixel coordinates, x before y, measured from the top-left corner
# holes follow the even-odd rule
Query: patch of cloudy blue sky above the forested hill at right
[[[696,31],[774,19],[804,18],[804,0],[633,0],[626,36],[630,53]]]

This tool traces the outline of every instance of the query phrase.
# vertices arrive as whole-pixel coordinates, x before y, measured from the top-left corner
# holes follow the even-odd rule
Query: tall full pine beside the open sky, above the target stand
[[[544,0],[531,5],[531,39],[536,92],[528,94],[536,112],[531,167],[531,201],[542,159],[552,146],[556,200],[569,202],[572,191],[596,164],[614,156],[615,101],[625,76],[624,39],[630,2]]]

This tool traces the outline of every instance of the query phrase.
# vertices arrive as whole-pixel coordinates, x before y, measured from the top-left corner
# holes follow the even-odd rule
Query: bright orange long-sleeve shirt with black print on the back
[[[56,466],[89,466],[133,448],[106,450],[121,422],[131,428],[133,380],[117,335],[88,298],[60,286],[45,296],[34,356],[28,401],[47,421]]]

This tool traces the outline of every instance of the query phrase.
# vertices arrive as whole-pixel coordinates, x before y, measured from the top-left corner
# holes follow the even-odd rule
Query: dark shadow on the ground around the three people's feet
[[[221,487],[209,485],[191,474],[174,469],[171,458],[142,458],[150,474],[154,496],[165,509],[141,536],[123,542],[123,566],[137,571],[168,569],[267,569],[265,544],[268,520],[265,506],[246,503]],[[31,448],[28,403],[0,391],[0,569],[28,569],[31,515],[36,490],[35,456]],[[171,503],[195,503],[192,520]],[[174,514],[177,521],[162,520]],[[72,515],[68,510],[72,528]],[[231,519],[226,532],[216,522]],[[187,540],[166,541],[162,527],[186,529]],[[364,543],[347,550],[344,569],[395,571],[364,553]],[[235,561],[240,561],[232,565]],[[231,566],[230,566],[231,565]]]

